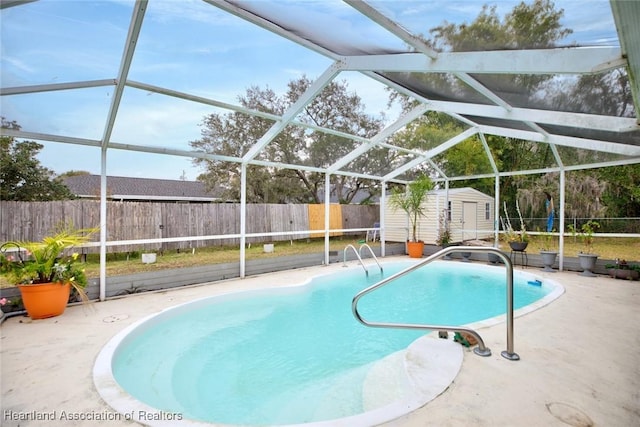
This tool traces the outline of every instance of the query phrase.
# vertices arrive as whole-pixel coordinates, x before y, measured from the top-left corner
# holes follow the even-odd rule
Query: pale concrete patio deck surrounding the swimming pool
[[[337,268],[334,264],[136,294],[69,307],[64,315],[45,320],[6,319],[0,327],[0,424],[138,425],[114,420],[114,411],[93,383],[96,356],[117,332],[193,299],[300,283]],[[640,425],[640,282],[528,271],[560,282],[566,292],[516,318],[514,343],[521,360],[500,356],[506,348],[504,324],[481,329],[492,356],[478,357],[465,349],[462,368],[442,395],[386,426]],[[85,419],[89,417],[102,420]]]

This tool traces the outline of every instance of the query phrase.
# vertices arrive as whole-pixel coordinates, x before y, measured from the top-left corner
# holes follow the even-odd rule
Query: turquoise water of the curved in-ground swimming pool
[[[385,264],[384,276],[411,264]],[[433,263],[366,296],[362,313],[382,321],[455,325],[504,313],[504,268],[456,263],[462,274],[452,277],[451,265]],[[351,299],[381,278],[373,270],[367,277],[351,268],[307,286],[177,306],[127,328],[99,360],[123,389],[118,397],[130,394],[140,407],[159,409],[161,417],[264,425],[357,416],[409,398],[410,387],[380,396],[384,393],[372,393],[370,385],[380,384],[379,372],[401,370],[402,351],[424,335],[356,322]],[[518,272],[514,278],[516,308],[552,290],[546,282],[527,285],[530,276]],[[108,396],[105,400],[112,404]]]

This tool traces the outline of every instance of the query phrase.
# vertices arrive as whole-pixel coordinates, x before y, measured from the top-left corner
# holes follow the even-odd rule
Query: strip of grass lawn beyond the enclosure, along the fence
[[[537,253],[540,250],[540,237],[532,236],[529,241],[527,252]],[[341,251],[347,245],[351,244],[356,247],[360,246],[360,238],[349,236],[332,238],[330,242],[330,250]],[[294,240],[292,242],[276,242],[275,250],[272,253],[264,253],[262,244],[256,243],[247,248],[247,259],[272,258],[288,255],[300,255],[306,253],[317,253],[324,250],[323,239]],[[370,243],[372,247],[379,246],[380,243]],[[509,245],[501,244],[501,249],[509,251]],[[557,248],[556,248],[557,249]],[[580,242],[574,238],[568,237],[565,240],[564,253],[565,256],[575,257],[582,249]],[[625,259],[628,262],[640,263],[640,239],[637,238],[596,238],[594,244],[594,253],[598,254],[601,259]],[[118,276],[123,274],[141,273],[145,271],[157,271],[172,268],[195,267],[205,264],[221,264],[226,262],[239,262],[240,250],[234,247],[212,247],[201,248],[195,251],[176,252],[167,251],[157,256],[157,262],[154,264],[143,264],[141,256],[137,254],[108,254],[107,255],[107,275]],[[98,277],[100,275],[99,256],[92,254],[87,257],[86,269],[88,277]],[[0,277],[0,287],[7,287],[10,284]]]

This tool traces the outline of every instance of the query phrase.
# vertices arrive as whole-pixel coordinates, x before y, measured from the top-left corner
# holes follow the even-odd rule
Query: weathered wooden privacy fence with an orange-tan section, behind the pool
[[[332,229],[370,228],[379,219],[378,206],[331,205]],[[78,228],[100,223],[100,202],[0,201],[0,243],[9,240],[38,241],[61,223]],[[316,237],[308,230],[324,228],[324,205],[248,204],[247,233],[288,235],[248,237],[247,242],[296,240]],[[107,202],[107,241],[220,236],[240,233],[239,204]],[[338,235],[341,233],[332,233]],[[364,234],[355,232],[349,234]],[[322,236],[319,235],[319,236]],[[99,236],[95,239],[98,241]],[[143,245],[109,246],[109,252],[191,249],[213,245],[237,245],[239,238],[216,238]],[[87,252],[97,252],[88,248]]]

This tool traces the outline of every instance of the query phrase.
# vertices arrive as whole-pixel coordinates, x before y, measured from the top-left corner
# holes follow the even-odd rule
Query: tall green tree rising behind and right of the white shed
[[[564,11],[556,10],[551,0],[536,0],[530,4],[524,2],[501,19],[496,7],[483,6],[478,16],[471,23],[443,23],[432,28],[430,39],[425,42],[438,51],[486,51],[495,49],[540,49],[556,46],[560,40],[572,33],[564,28],[561,20]],[[467,86],[451,74],[416,73],[416,79],[423,82],[424,87],[432,90],[434,99],[456,99],[461,102],[486,103],[487,100],[475,90]],[[551,76],[548,75],[474,75],[480,83],[493,89],[506,102],[514,105],[536,106],[550,102],[539,94],[550,87]],[[546,85],[546,86],[545,86]],[[537,96],[536,96],[537,95]],[[404,110],[413,103],[407,98],[391,94],[390,102],[400,101]],[[422,141],[438,140],[444,142],[443,136],[456,135],[466,129],[466,125],[457,120],[446,118],[444,114],[436,117],[427,115],[419,129],[414,129]],[[473,118],[472,118],[473,119]],[[445,120],[448,135],[442,134],[440,123]],[[550,147],[530,141],[498,136],[487,136],[487,144],[499,170],[523,170],[545,167],[554,164]],[[418,145],[416,148],[421,148]],[[430,144],[422,146],[430,148]],[[434,158],[437,166],[447,176],[481,174],[491,171],[484,147],[477,137],[469,138]],[[504,177],[500,186],[500,198],[512,205],[518,196],[519,177]],[[491,194],[492,180],[455,181],[452,186],[470,185],[480,191]]]

